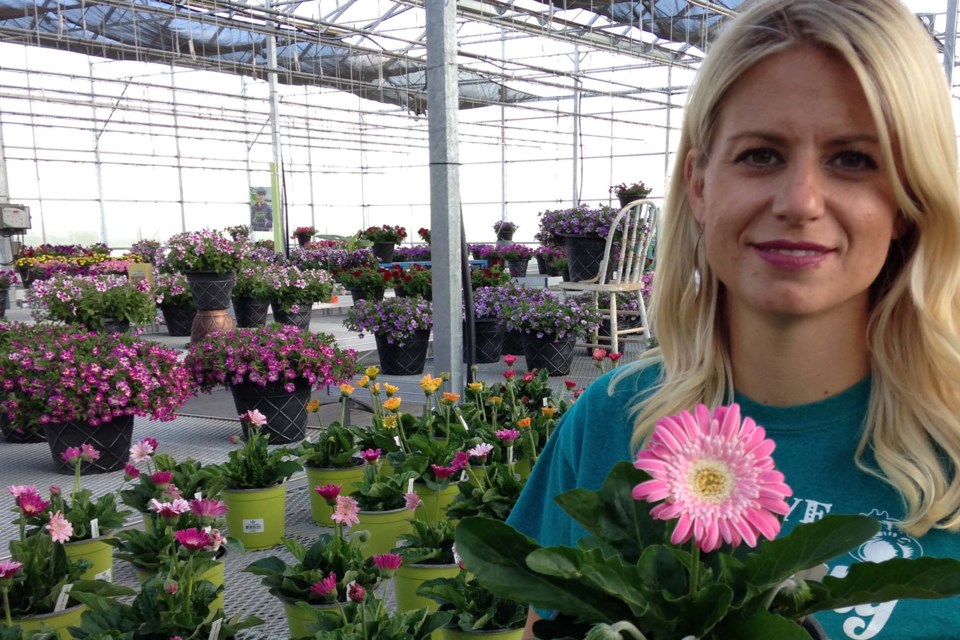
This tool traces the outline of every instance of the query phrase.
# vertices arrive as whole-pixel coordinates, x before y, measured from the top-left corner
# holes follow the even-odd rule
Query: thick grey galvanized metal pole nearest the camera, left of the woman
[[[430,226],[433,261],[433,355],[437,372],[450,372],[450,389],[463,388],[460,326],[460,158],[457,146],[457,58],[454,0],[426,0],[427,119],[430,136]]]

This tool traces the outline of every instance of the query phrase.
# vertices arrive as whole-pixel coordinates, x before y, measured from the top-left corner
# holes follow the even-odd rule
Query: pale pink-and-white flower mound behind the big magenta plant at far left
[[[126,276],[58,273],[34,283],[27,293],[36,319],[81,324],[91,331],[129,331],[153,322],[156,306],[146,280]]]

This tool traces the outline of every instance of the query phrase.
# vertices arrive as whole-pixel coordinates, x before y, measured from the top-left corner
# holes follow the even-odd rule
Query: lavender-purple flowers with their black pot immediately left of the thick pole
[[[347,311],[343,325],[361,338],[365,333],[374,335],[384,373],[423,373],[433,327],[433,309],[424,298],[358,300]]]

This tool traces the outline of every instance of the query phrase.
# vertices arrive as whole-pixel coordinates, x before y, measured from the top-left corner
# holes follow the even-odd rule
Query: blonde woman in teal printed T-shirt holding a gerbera
[[[510,524],[575,545],[555,495],[599,488],[658,418],[735,401],[777,442],[784,531],[881,521],[833,574],[960,557],[958,199],[945,78],[900,0],[754,5],[690,92],[651,305],[660,347],[587,389]],[[960,602],[817,617],[834,640],[954,638]]]

